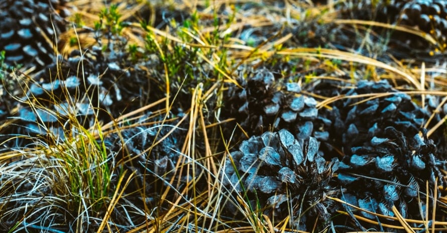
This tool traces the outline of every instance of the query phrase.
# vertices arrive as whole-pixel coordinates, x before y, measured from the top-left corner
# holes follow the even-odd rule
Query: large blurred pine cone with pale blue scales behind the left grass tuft
[[[42,109],[33,110],[22,103],[14,116],[20,127],[13,130],[18,132],[9,133],[51,133],[63,138],[63,128],[72,114],[89,128],[95,119],[109,122],[149,103],[151,83],[142,62],[128,59],[126,43],[119,38],[108,45],[104,50],[98,43],[82,54],[74,50],[68,58],[59,56],[34,74],[26,95],[19,97],[29,102],[39,100]]]

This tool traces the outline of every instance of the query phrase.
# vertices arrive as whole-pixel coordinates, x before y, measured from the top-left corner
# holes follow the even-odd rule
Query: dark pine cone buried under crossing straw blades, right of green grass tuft
[[[141,126],[107,135],[104,143],[110,153],[119,156],[117,160],[122,157],[126,169],[137,172],[135,182],[132,182],[126,192],[138,193],[135,198],[141,200],[140,189],[144,186],[145,195],[150,198],[143,201],[156,204],[167,184],[178,190],[185,188],[186,182],[193,179],[192,167],[195,164],[181,154],[185,129],[176,128],[170,132],[178,121],[147,125],[146,119],[149,116],[140,118],[138,124]],[[168,133],[169,136],[164,138]],[[162,138],[164,139],[160,141]],[[195,167],[195,172],[200,173],[199,167]]]

